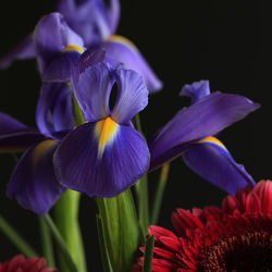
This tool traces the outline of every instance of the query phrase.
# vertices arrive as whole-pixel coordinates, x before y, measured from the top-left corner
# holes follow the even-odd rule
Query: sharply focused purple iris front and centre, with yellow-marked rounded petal
[[[149,166],[147,143],[131,122],[147,106],[148,90],[137,73],[109,63],[76,70],[72,87],[86,123],[70,132],[55,150],[58,181],[90,197],[113,197]],[[118,95],[111,109],[114,84]]]

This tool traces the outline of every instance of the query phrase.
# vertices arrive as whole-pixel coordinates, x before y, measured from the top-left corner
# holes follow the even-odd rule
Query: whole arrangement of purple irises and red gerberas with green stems
[[[120,15],[119,0],[58,0],[0,60],[7,72],[18,60],[37,63],[36,125],[0,112],[0,150],[15,162],[7,196],[38,214],[42,240],[40,255],[1,215],[1,232],[25,257],[1,260],[0,271],[97,271],[86,261],[83,197],[97,209],[88,217],[104,271],[271,270],[271,182],[256,184],[218,138],[260,106],[189,82],[180,97],[190,103],[147,136],[141,112],[163,83],[148,55],[118,34]],[[178,157],[230,195],[222,209],[177,209],[176,236],[157,224]]]

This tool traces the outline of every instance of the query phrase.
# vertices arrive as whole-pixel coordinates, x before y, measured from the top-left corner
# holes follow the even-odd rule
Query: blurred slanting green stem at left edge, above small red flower
[[[38,256],[24,238],[0,215],[0,231],[21,250],[26,257]]]

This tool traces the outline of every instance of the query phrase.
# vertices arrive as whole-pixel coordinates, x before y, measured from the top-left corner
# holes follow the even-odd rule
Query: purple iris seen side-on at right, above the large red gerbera
[[[237,95],[210,94],[208,81],[185,85],[181,95],[189,96],[193,104],[177,112],[150,140],[149,170],[183,154],[191,170],[230,194],[255,185],[244,166],[212,135],[244,119],[259,104]]]

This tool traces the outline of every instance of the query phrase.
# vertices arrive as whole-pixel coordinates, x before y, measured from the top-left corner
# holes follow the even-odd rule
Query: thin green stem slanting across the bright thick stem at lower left
[[[70,256],[70,250],[66,247],[66,244],[65,244],[63,237],[61,236],[58,227],[55,226],[55,224],[53,223],[53,221],[51,220],[49,214],[45,215],[45,220],[46,220],[48,226],[50,227],[51,233],[52,233],[52,235],[53,235],[53,237],[59,246],[62,258],[65,261],[65,269],[62,268],[61,271],[63,271],[63,272],[66,272],[66,271],[77,272],[75,263],[74,263],[72,257]],[[78,270],[78,271],[81,271],[81,270]]]

